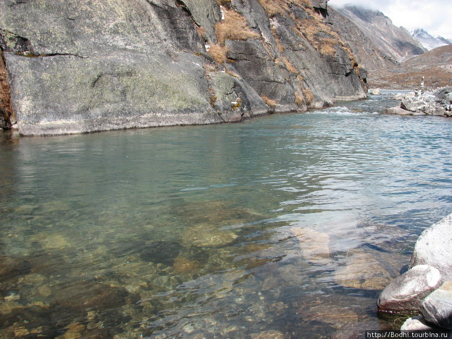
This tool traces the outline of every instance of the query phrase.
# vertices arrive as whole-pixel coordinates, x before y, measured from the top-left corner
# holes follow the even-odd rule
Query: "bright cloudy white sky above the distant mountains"
[[[381,11],[394,25],[407,30],[423,28],[430,35],[452,38],[451,0],[329,0],[331,7],[360,5]]]

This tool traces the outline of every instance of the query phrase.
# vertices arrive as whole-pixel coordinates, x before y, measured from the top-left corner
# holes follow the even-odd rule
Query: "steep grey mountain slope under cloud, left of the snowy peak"
[[[403,57],[426,51],[405,28],[394,26],[391,19],[380,11],[357,6],[345,6],[336,10],[356,24],[388,58],[399,61]]]

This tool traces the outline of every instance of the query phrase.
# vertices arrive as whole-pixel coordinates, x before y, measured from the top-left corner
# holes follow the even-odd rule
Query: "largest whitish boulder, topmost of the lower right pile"
[[[452,214],[433,224],[420,235],[414,246],[409,267],[430,265],[442,277],[452,280]]]

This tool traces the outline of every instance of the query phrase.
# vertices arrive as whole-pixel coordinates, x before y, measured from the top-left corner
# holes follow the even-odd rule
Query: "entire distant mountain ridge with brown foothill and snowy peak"
[[[357,6],[329,14],[334,30],[367,70],[371,88],[416,89],[421,81],[429,89],[452,85],[451,41],[421,29],[412,36],[383,13]]]

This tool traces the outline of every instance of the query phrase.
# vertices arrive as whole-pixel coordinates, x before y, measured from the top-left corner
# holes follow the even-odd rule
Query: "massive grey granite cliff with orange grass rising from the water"
[[[70,134],[363,98],[366,72],[328,18],[325,0],[4,0],[0,123]]]

